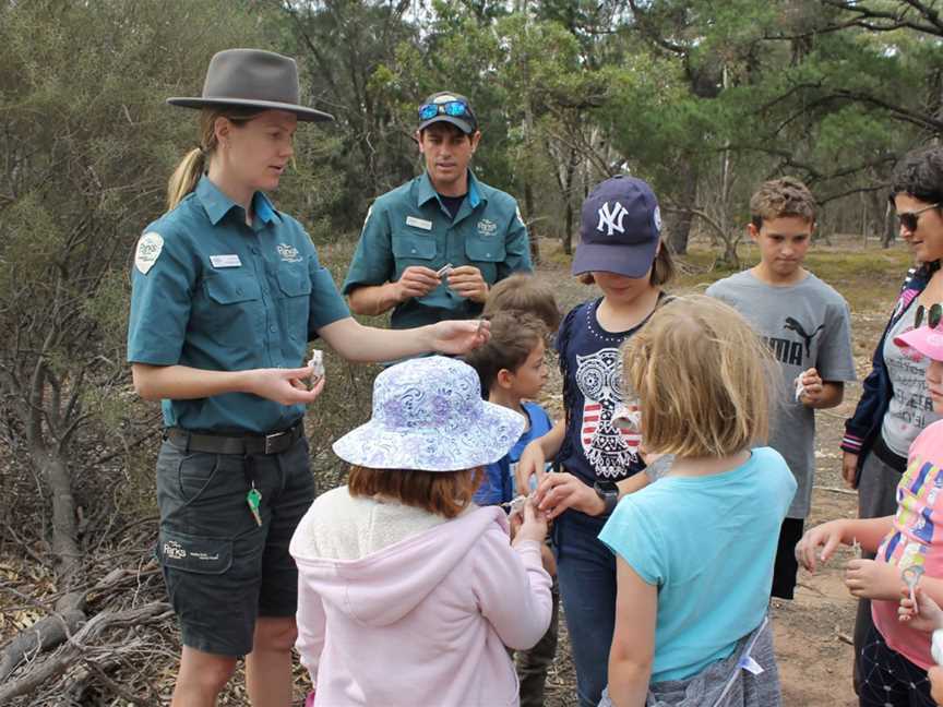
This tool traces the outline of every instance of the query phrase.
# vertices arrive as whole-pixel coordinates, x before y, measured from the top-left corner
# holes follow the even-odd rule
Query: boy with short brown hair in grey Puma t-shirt
[[[815,227],[815,197],[796,178],[764,182],[750,200],[747,231],[760,263],[714,283],[707,295],[740,312],[783,370],[769,446],[799,483],[779,532],[773,596],[792,599],[799,568],[793,549],[809,515],[815,474],[815,410],[841,403],[855,380],[851,316],[832,287],[802,267]]]

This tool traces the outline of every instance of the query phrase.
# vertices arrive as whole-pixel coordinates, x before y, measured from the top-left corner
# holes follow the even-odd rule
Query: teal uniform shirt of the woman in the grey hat
[[[207,371],[296,368],[350,315],[305,228],[253,196],[253,224],[206,177],[147,226],[131,274],[128,360]],[[305,414],[248,393],[164,400],[168,427],[274,432]]]

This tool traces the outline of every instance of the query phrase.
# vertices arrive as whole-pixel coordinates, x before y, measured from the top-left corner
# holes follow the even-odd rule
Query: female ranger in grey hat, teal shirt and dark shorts
[[[180,622],[175,707],[215,704],[240,656],[254,706],[291,702],[297,571],[288,542],[314,496],[303,435],[307,341],[348,360],[457,354],[477,322],[381,331],[355,322],[301,225],[264,192],[291,159],[295,61],[254,49],[213,57],[200,145],[170,178],[168,213],[138,242],[128,360],[163,400],[158,556]]]

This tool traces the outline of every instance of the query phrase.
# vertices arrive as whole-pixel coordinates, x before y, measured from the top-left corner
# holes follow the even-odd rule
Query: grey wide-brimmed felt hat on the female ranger
[[[298,65],[290,57],[262,49],[226,49],[213,55],[203,95],[168,98],[171,106],[244,106],[262,110],[287,110],[298,120],[334,120],[334,116],[299,105]]]

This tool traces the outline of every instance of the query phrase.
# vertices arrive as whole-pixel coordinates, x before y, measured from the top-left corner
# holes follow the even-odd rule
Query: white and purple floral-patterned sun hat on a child
[[[431,356],[380,373],[370,421],[333,448],[345,462],[371,469],[458,471],[498,462],[524,424],[524,416],[481,399],[470,366]]]

